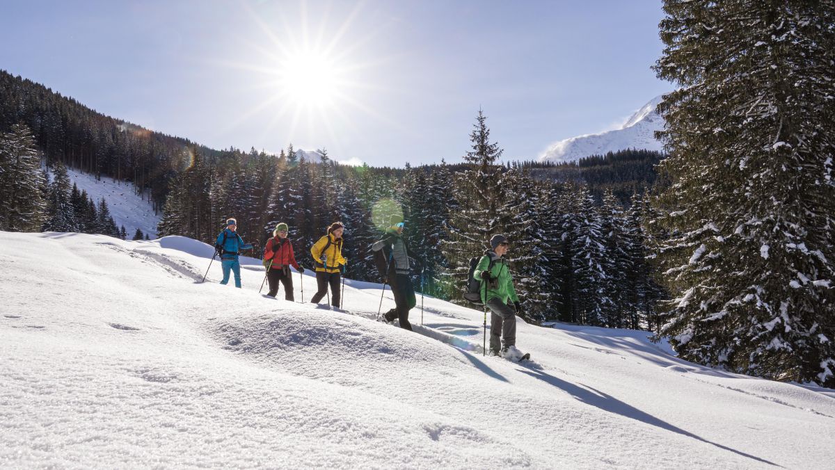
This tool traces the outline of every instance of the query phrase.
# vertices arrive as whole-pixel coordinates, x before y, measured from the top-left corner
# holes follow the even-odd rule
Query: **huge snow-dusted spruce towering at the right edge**
[[[835,3],[664,11],[661,334],[688,361],[835,387]]]

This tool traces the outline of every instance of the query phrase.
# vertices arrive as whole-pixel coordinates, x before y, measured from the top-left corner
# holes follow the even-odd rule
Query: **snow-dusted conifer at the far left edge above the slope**
[[[41,229],[47,201],[40,157],[32,133],[23,124],[0,134],[0,230],[33,232]]]

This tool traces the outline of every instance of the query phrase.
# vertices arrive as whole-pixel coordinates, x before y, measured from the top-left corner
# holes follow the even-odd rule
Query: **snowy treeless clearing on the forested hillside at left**
[[[134,192],[134,186],[130,183],[110,179],[103,176],[97,180],[93,174],[82,173],[68,168],[69,179],[78,185],[78,190],[87,190],[87,194],[99,204],[104,197],[107,201],[110,215],[117,227],[124,225],[128,238],[133,238],[136,229],[148,234],[150,238],[156,238],[156,229],[161,214],[155,215],[154,208],[148,198],[142,198]]]

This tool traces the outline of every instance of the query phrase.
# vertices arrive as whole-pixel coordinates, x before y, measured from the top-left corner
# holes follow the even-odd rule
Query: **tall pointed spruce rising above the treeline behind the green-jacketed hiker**
[[[466,291],[469,259],[483,255],[489,248],[488,240],[502,233],[498,210],[504,191],[501,187],[502,166],[497,164],[503,150],[498,142],[490,141],[487,116],[478,110],[473,132],[470,134],[471,150],[464,155],[469,169],[454,177],[454,197],[458,210],[450,213],[448,240],[443,241],[451,279],[452,300],[462,302]]]

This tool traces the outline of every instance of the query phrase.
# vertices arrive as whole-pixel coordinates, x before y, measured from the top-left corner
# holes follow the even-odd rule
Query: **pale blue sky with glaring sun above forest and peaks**
[[[661,18],[652,0],[7,0],[0,68],[218,149],[458,162],[481,107],[504,159],[534,159],[671,89],[650,70]]]

